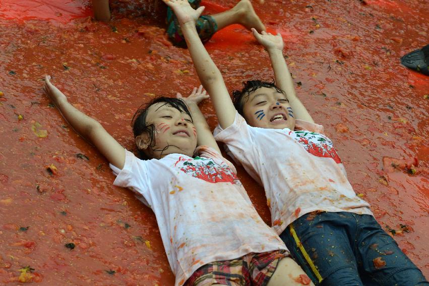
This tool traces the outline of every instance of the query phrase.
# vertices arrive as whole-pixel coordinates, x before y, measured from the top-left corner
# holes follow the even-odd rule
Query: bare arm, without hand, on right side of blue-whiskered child
[[[273,67],[276,84],[279,88],[286,92],[287,99],[289,100],[289,104],[292,107],[296,119],[314,122],[313,118],[307,111],[307,108],[305,108],[305,106],[296,96],[292,76],[290,75],[289,69],[287,68],[286,61],[283,58],[283,52],[278,48],[272,48],[268,50],[268,54]]]

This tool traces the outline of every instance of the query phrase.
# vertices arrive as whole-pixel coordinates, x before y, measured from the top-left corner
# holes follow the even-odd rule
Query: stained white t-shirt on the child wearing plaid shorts
[[[287,250],[256,212],[233,165],[206,146],[196,154],[141,160],[126,151],[122,170],[110,164],[113,185],[131,187],[154,211],[175,285],[210,262]]]

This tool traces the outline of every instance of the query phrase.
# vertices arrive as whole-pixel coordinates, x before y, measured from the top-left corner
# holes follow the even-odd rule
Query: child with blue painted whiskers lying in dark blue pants
[[[268,51],[277,85],[248,81],[229,97],[222,75],[196,35],[194,13],[183,0],[172,7],[198,76],[212,98],[219,126],[215,139],[259,180],[272,227],[293,257],[321,285],[428,285],[354,193],[323,126],[299,101],[278,35],[253,29]]]

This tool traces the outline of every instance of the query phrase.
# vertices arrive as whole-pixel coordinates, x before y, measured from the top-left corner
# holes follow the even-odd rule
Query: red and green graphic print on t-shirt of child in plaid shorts
[[[209,183],[223,182],[241,184],[234,172],[224,162],[218,164],[211,159],[201,158],[198,156],[194,159],[180,156],[174,166],[178,163],[181,163],[181,166],[178,166],[181,171],[194,178],[198,178]]]

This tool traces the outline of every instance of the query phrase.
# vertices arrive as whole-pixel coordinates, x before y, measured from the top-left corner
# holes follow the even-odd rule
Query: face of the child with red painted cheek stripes
[[[172,153],[194,154],[197,129],[186,112],[160,102],[149,107],[146,122],[155,125],[155,146],[142,148],[148,156],[159,159]]]

